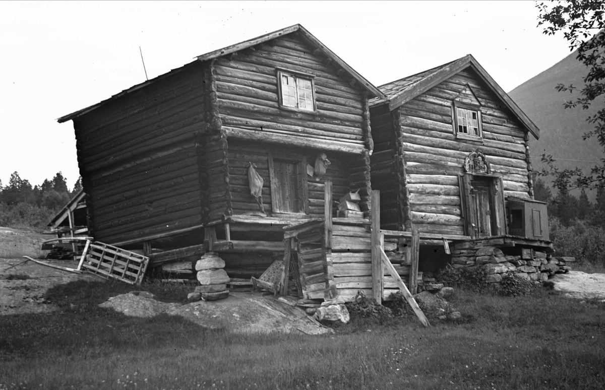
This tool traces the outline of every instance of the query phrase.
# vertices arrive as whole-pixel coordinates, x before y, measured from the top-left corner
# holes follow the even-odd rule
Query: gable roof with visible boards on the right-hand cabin
[[[483,82],[485,82],[500,100],[502,100],[506,107],[513,112],[519,122],[521,122],[535,138],[540,138],[540,129],[538,129],[525,112],[517,106],[517,103],[506,94],[504,89],[489,76],[485,69],[479,65],[479,62],[477,62],[471,54],[467,54],[452,62],[444,63],[439,67],[379,86],[378,88],[384,92],[387,97],[385,97],[385,99],[378,98],[371,100],[370,106],[388,103],[388,108],[390,110],[396,109],[466,68],[472,68],[476,71]]]

